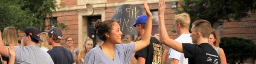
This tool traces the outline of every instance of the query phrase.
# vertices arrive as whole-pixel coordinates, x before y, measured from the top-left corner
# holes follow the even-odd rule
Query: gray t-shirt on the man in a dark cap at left
[[[15,64],[54,64],[47,52],[38,46],[15,46]]]

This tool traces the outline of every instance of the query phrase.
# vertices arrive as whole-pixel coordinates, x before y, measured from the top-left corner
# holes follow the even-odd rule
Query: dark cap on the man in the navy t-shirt
[[[44,30],[44,32],[48,32],[48,34],[49,33],[52,34],[53,37],[55,37],[55,38],[58,38],[58,39],[62,38],[62,32],[61,32],[61,29],[59,29],[59,28],[53,27],[50,30]]]

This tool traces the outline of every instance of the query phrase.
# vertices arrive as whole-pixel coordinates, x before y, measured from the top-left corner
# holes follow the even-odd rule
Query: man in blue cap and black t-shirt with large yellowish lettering
[[[144,35],[146,21],[147,16],[140,15],[132,25],[136,27],[138,36]],[[134,56],[138,64],[163,64],[163,46],[157,38],[151,36],[149,45],[137,51]]]

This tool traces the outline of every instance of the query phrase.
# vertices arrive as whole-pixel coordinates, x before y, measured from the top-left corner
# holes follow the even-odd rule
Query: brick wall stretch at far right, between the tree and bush
[[[248,13],[249,17],[241,19],[241,21],[224,22],[224,37],[242,37],[256,41],[256,15]]]

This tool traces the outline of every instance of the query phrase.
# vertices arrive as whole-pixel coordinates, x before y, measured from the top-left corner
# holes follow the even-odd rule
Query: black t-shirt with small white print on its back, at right
[[[183,43],[182,46],[185,58],[189,58],[189,64],[221,64],[217,51],[208,43]]]

